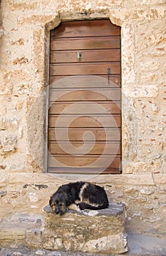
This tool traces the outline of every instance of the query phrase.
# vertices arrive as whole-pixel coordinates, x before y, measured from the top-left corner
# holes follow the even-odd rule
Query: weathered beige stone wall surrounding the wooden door
[[[92,180],[127,205],[127,230],[166,236],[165,1],[2,0],[0,12],[0,218],[42,212],[67,182],[44,174],[50,29],[110,18],[121,26],[123,174]]]

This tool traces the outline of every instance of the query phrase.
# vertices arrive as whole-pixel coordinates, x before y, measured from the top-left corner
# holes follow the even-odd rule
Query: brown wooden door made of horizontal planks
[[[51,31],[48,172],[121,173],[120,37],[110,20]]]

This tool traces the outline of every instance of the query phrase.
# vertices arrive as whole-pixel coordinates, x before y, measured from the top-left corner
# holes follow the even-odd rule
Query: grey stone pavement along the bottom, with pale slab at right
[[[128,234],[129,252],[124,256],[166,256],[166,239]],[[81,252],[58,252],[45,249],[0,248],[0,256],[95,256],[95,254]],[[97,254],[97,256],[104,256]],[[107,255],[114,256],[114,255]],[[118,255],[120,256],[120,255]]]

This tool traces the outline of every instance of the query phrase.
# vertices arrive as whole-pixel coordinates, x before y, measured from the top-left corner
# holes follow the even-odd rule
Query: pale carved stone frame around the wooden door
[[[132,115],[132,107],[129,99],[125,96],[125,91],[129,90],[129,84],[134,82],[134,31],[132,26],[125,20],[122,22],[122,18],[119,18],[118,10],[112,14],[94,13],[93,15],[87,15],[86,13],[80,14],[64,14],[64,15],[48,15],[45,17],[45,22],[41,24],[39,29],[34,34],[34,68],[37,70],[40,79],[39,101],[36,101],[33,106],[33,111],[39,113],[39,118],[42,121],[42,125],[38,127],[40,146],[36,146],[36,143],[32,143],[30,151],[32,151],[32,157],[36,162],[36,169],[39,168],[40,172],[47,172],[47,157],[48,157],[48,92],[49,92],[49,53],[50,53],[50,30],[59,26],[61,21],[65,20],[88,20],[109,18],[110,21],[121,26],[121,108],[122,108],[122,123],[121,123],[121,157],[122,157],[122,173],[129,173],[129,165],[132,160],[132,156],[136,148],[137,137],[137,121],[128,121],[128,116]],[[40,37],[39,37],[40,35]],[[35,42],[35,37],[40,38],[39,42]],[[37,40],[36,38],[36,40]],[[37,43],[37,44],[36,44]],[[39,49],[37,50],[37,45]],[[42,110],[41,110],[42,106]],[[130,108],[131,107],[131,108]],[[33,114],[32,114],[33,116]],[[31,116],[30,116],[31,118]],[[30,124],[31,125],[31,124]],[[34,124],[34,128],[37,123]],[[33,127],[31,128],[33,130]],[[36,130],[36,129],[35,129]],[[133,132],[135,130],[135,132]],[[33,132],[32,132],[33,135]],[[129,153],[129,151],[131,153]]]

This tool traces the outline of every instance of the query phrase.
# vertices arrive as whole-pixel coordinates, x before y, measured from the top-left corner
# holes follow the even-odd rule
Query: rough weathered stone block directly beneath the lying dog
[[[45,228],[27,231],[28,246],[95,254],[127,252],[123,205],[110,205],[99,211],[68,211],[63,216],[50,213],[49,207],[45,210]]]

